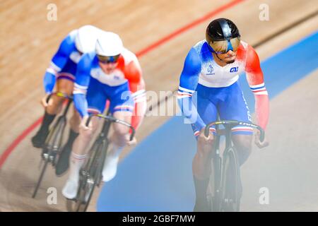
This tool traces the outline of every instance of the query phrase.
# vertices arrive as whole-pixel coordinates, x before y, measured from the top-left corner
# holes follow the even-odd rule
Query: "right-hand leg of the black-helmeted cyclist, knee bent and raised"
[[[228,94],[225,101],[218,105],[220,119],[237,121],[251,121],[251,114],[245,97],[238,83],[228,87]],[[237,149],[237,155],[242,165],[251,153],[253,130],[247,126],[235,126],[232,129],[232,141]]]

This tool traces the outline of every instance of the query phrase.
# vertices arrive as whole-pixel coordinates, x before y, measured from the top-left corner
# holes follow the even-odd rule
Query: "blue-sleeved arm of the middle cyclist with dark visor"
[[[76,69],[76,79],[73,90],[74,105],[81,114],[81,117],[88,116],[88,103],[86,100],[86,91],[90,83],[91,60],[88,54],[84,54],[78,62]]]

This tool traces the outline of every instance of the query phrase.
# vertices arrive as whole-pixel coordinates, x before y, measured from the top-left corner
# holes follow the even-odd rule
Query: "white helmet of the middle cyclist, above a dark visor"
[[[113,32],[102,32],[96,42],[96,54],[103,57],[117,56],[122,53],[124,45],[119,35]]]

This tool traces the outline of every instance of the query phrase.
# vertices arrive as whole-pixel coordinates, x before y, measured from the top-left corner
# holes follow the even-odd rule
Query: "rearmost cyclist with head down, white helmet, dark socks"
[[[63,97],[53,95],[49,103],[47,103],[47,96],[52,93],[54,86],[57,92],[66,95],[73,93],[78,61],[83,53],[94,51],[98,32],[101,32],[101,30],[93,25],[84,25],[81,28],[72,30],[64,38],[59,45],[59,49],[54,54],[43,79],[45,97],[42,98],[41,104],[45,107],[45,114],[40,129],[31,140],[35,148],[42,148],[42,145],[44,145],[49,133],[49,125],[52,124],[64,100]],[[80,117],[74,109],[73,116],[70,119],[69,141],[73,141],[78,136],[79,120]]]

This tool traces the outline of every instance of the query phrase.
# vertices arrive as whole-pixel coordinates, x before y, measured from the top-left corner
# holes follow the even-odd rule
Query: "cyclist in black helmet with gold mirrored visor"
[[[251,121],[251,114],[242,93],[238,78],[244,72],[249,88],[254,93],[257,123],[266,129],[269,120],[269,97],[257,52],[240,40],[240,32],[231,20],[218,18],[206,28],[206,40],[194,45],[187,54],[179,78],[177,94],[182,113],[192,124],[197,150],[192,162],[196,202],[194,211],[208,211],[206,190],[211,174],[214,126],[208,138],[204,127],[220,119]],[[252,149],[252,129],[236,126],[232,129],[232,141],[237,148],[240,165]],[[269,145],[255,134],[259,148]]]

